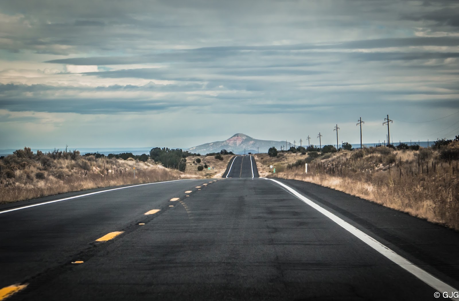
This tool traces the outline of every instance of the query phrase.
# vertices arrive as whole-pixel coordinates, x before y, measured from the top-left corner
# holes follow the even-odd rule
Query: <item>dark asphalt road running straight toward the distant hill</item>
[[[459,233],[279,180],[330,212],[325,216],[281,184],[257,178],[253,158],[252,165],[249,156],[231,163],[223,179],[94,190],[100,193],[11,212],[3,211],[93,191],[0,206],[0,288],[28,284],[11,301],[437,300],[429,279],[375,251],[335,217],[459,287]],[[144,215],[152,209],[161,211]],[[114,231],[123,233],[95,242]]]

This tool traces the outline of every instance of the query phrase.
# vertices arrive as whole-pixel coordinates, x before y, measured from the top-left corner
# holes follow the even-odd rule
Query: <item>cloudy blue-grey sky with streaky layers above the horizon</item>
[[[2,0],[0,148],[459,134],[459,1]],[[317,141],[316,141],[317,140]]]

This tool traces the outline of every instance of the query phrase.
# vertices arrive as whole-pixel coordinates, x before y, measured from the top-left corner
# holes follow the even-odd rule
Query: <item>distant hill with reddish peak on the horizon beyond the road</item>
[[[200,153],[204,155],[207,153],[219,152],[222,149],[225,149],[227,151],[232,151],[235,154],[243,154],[244,149],[246,149],[246,153],[257,153],[257,148],[259,147],[260,153],[267,153],[271,146],[274,146],[276,149],[280,150],[280,145],[285,146],[285,141],[258,140],[253,139],[246,134],[235,134],[224,141],[215,141],[190,147],[185,151]]]

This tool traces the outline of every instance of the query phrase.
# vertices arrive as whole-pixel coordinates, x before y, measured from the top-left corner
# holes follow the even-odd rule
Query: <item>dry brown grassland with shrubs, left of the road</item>
[[[207,163],[214,167],[203,171],[197,170],[196,158],[187,157],[185,172],[179,172],[151,159],[142,162],[133,158],[95,158],[79,156],[78,151],[57,156],[41,152],[34,154],[30,148],[24,148],[0,159],[0,203],[100,187],[221,177],[231,156],[223,156],[223,161],[213,156],[200,156],[201,165]]]

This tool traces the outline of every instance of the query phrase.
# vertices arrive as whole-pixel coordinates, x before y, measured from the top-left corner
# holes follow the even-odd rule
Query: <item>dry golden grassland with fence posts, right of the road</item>
[[[459,143],[450,147],[459,149]],[[283,162],[258,156],[257,164],[284,166],[279,173],[267,173],[269,177],[330,187],[459,230],[458,160],[442,160],[439,155],[431,149],[340,151],[310,162],[308,174],[304,164],[286,167],[296,162],[297,154],[287,154]]]

